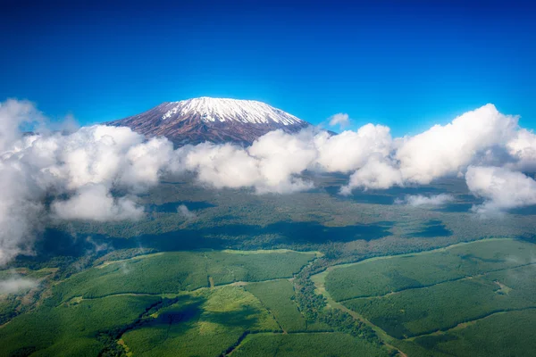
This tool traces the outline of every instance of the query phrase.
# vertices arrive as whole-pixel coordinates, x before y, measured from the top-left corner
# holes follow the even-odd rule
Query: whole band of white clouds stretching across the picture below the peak
[[[345,117],[332,120],[343,123]],[[366,124],[335,136],[276,130],[246,148],[204,143],[174,150],[163,137],[146,140],[128,128],[103,125],[23,134],[25,126],[44,128],[46,119],[33,104],[8,100],[0,104],[0,264],[31,253],[46,220],[143,217],[138,195],[165,174],[189,172],[209,187],[286,194],[314,187],[304,179],[306,171],[343,172],[349,174],[341,188],[346,195],[465,176],[473,195],[485,201],[475,212],[536,204],[536,184],[521,172],[536,168],[536,136],[517,120],[487,104],[413,137],[393,138],[388,127]],[[415,196],[405,203],[448,199]]]

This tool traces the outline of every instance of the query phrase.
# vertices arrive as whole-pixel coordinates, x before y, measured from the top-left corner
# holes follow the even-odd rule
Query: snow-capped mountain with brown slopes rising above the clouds
[[[269,131],[293,133],[311,125],[262,102],[205,96],[166,102],[107,124],[130,127],[146,137],[167,137],[175,145],[205,141],[251,145]]]

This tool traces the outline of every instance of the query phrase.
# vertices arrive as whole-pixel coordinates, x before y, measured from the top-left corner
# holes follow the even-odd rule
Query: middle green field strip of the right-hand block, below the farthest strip
[[[536,279],[536,268],[516,268],[529,281]],[[412,289],[381,298],[360,298],[344,304],[366,319],[398,338],[418,336],[439,329],[453,328],[459,323],[477,320],[495,311],[536,307],[534,288],[517,290],[509,278],[510,271],[493,273],[489,277],[457,280],[436,286]],[[501,284],[512,290],[503,293]],[[532,293],[532,295],[531,295]]]

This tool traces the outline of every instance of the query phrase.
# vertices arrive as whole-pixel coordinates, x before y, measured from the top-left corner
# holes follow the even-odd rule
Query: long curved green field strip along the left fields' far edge
[[[235,281],[289,278],[313,260],[314,253],[170,252],[108,262],[54,286],[54,300],[116,294],[176,294]]]

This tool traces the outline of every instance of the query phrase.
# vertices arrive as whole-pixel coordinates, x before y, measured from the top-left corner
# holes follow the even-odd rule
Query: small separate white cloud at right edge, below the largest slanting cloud
[[[473,195],[484,198],[482,205],[473,207],[482,215],[536,204],[536,181],[522,172],[470,166],[465,181]]]

